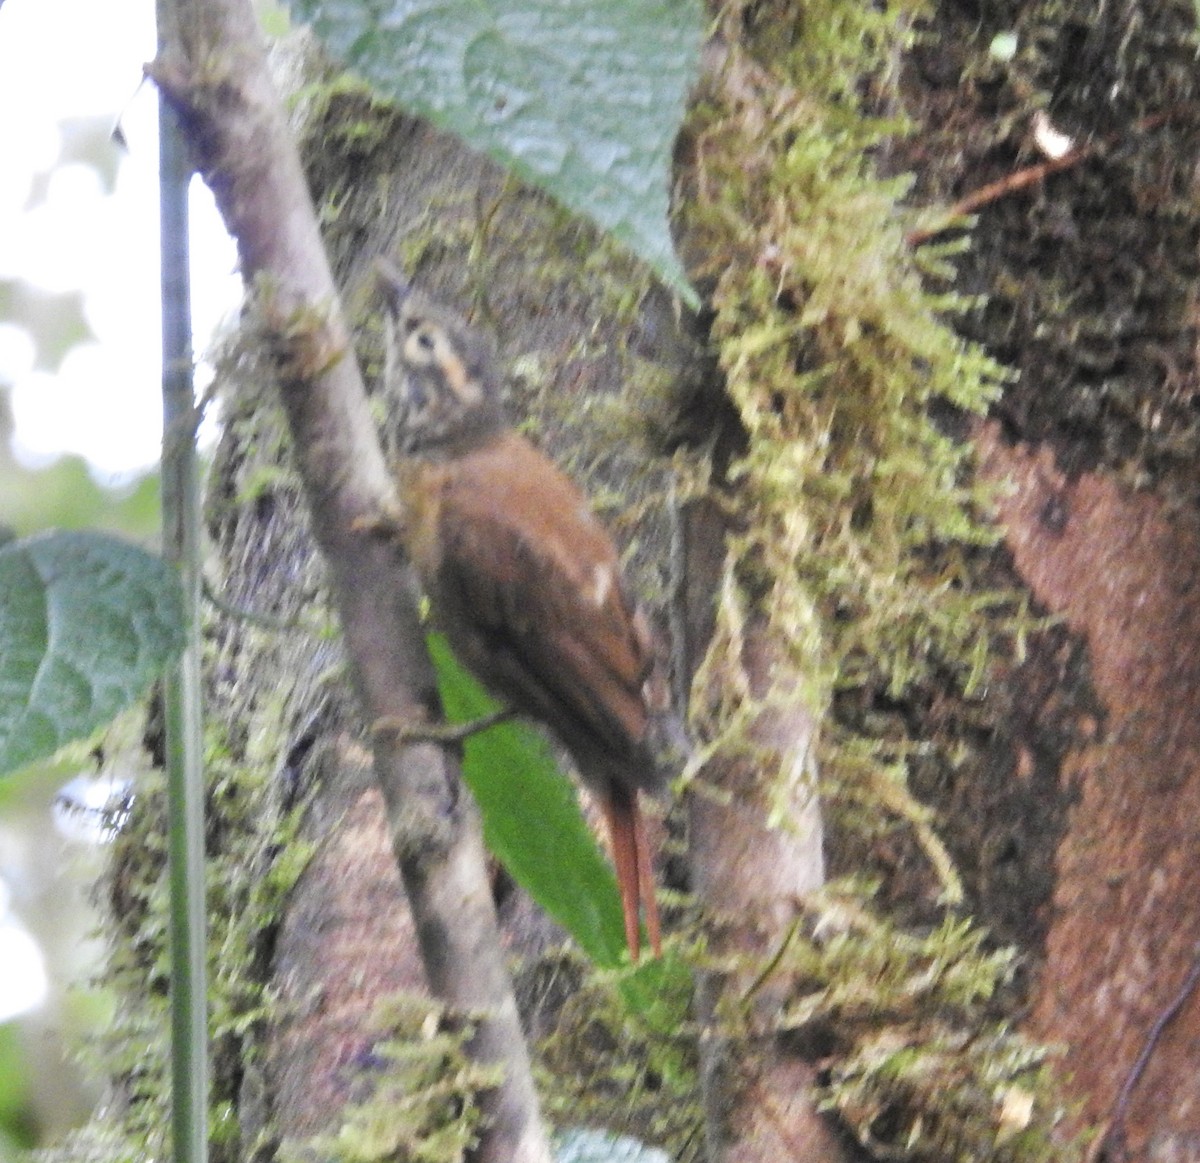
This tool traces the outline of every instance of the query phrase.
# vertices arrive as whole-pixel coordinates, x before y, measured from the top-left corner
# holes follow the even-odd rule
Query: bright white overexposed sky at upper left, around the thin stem
[[[44,463],[85,456],[102,476],[151,467],[161,444],[157,95],[140,85],[154,56],[150,0],[5,0],[0,7],[0,278],[82,289],[95,343],[54,374],[0,336],[0,382],[13,383],[14,449]],[[16,114],[16,115],[13,115]],[[31,181],[59,156],[59,122],[110,116],[128,142],[115,192],[70,166],[30,206]],[[118,145],[112,146],[119,151]],[[193,185],[197,349],[238,301],[233,245]]]

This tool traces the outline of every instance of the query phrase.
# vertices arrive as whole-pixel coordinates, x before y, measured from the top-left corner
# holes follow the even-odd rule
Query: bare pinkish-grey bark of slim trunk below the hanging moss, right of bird
[[[726,418],[726,426],[728,426]],[[724,442],[737,439],[727,430]],[[694,669],[714,630],[713,594],[727,569],[727,521],[708,503],[689,505],[683,520],[682,628],[685,664]],[[761,696],[790,664],[778,643],[751,629],[738,664],[751,697]],[[799,689],[797,683],[797,689]],[[776,687],[776,689],[779,689]],[[716,757],[697,774],[688,796],[691,886],[703,901],[712,951],[740,972],[698,975],[696,1008],[701,1085],[709,1163],[774,1163],[787,1158],[835,1163],[846,1158],[828,1119],[814,1102],[816,1067],[775,1030],[787,984],[755,981],[787,940],[797,900],[824,883],[823,827],[812,762],[815,723],[797,694],[787,711],[760,714],[756,745],[779,759],[768,775],[754,763]],[[782,823],[772,827],[768,779],[790,787]],[[752,991],[752,993],[751,993]],[[722,1009],[749,1007],[739,1036],[727,1032]]]

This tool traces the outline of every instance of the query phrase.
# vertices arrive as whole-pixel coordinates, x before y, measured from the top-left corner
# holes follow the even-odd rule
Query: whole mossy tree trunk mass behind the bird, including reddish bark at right
[[[517,995],[530,1035],[550,1036],[559,1115],[620,1110],[680,1157],[857,1151],[814,1086],[888,1157],[1078,1157],[1055,1145],[1062,1099],[1044,1077],[1003,1059],[991,1090],[972,1081],[1001,1054],[971,1059],[986,1038],[967,1009],[995,1019],[989,1037],[1021,1015],[1069,1047],[1076,1122],[1116,1111],[1134,1157],[1187,1157],[1200,1001],[1183,999],[1127,1111],[1115,1104],[1200,939],[1194,12],[942,0],[913,49],[913,25],[876,10],[722,10],[679,156],[680,246],[712,305],[696,324],[542,197],[361,88],[314,79],[302,54],[282,62],[367,380],[368,274],[386,254],[494,331],[512,410],[616,524],[714,744],[666,826],[664,875],[697,894],[708,936],[698,1029],[655,1060],[678,1071],[655,1066],[613,1101],[628,1075],[596,1045],[622,1047],[602,987],[546,955],[558,935],[498,875]],[[994,41],[1008,32],[1012,58]],[[1019,168],[1044,104],[1111,144],[985,209],[965,257],[916,251],[916,204]],[[914,172],[916,190],[884,169]],[[952,286],[989,305],[964,310]],[[395,1109],[379,1090],[389,1036],[426,1045],[425,1073],[401,1075],[410,1092],[466,1067],[449,1023],[397,1001],[424,975],[259,340],[247,326],[223,358],[209,499],[218,588],[286,622],[210,628],[210,850],[230,911],[220,1150],[269,1158],[355,1108],[337,1150],[371,1157],[388,1146],[371,1119]],[[1003,484],[996,528],[989,482]],[[1022,599],[1058,621],[1022,616]],[[865,897],[810,904],[826,862],[877,881],[887,927],[862,919]],[[911,954],[922,972],[904,983],[920,988],[967,964],[932,940],[964,913],[1022,967],[986,1003],[982,985],[970,1002],[930,990],[908,1012],[889,958]],[[932,953],[912,952],[914,934]],[[838,961],[839,942],[854,955]],[[952,1050],[926,1092],[872,1074],[935,1043]],[[458,1077],[463,1095],[479,1083]],[[594,1108],[570,1109],[569,1077]],[[373,1092],[382,1108],[362,1102]],[[976,1122],[959,1126],[966,1093]],[[446,1109],[431,1098],[401,1129],[438,1128],[454,1158]]]

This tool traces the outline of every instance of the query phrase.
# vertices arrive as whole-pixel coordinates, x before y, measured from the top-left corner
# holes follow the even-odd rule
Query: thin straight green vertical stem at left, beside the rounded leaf
[[[158,0],[160,50],[170,28]],[[179,565],[187,645],[164,683],[167,855],[170,877],[172,1147],[176,1163],[208,1158],[208,987],[204,773],[200,720],[200,509],[192,384],[187,187],[192,168],[175,114],[158,103],[162,258],[163,553]]]

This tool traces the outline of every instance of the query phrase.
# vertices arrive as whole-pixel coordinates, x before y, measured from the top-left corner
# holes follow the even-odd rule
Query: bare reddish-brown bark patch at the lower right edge
[[[1062,772],[1079,801],[1057,858],[1030,1032],[1064,1044],[1088,1122],[1105,1122],[1200,948],[1200,523],[994,427],[986,472],[1014,492],[1007,544],[1038,600],[1087,641],[1106,708]],[[1200,1150],[1200,997],[1168,1024],[1128,1111],[1134,1158]]]

